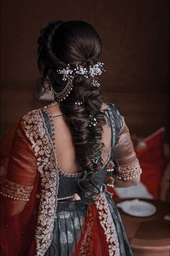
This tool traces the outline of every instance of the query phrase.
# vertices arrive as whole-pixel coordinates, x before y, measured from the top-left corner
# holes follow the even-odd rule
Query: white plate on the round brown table
[[[117,206],[125,213],[135,217],[147,217],[156,213],[156,207],[152,203],[142,200],[126,200],[122,203],[117,203]]]

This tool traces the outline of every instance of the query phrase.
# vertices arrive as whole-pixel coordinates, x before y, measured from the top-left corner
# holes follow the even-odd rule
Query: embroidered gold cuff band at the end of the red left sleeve
[[[33,186],[21,185],[10,180],[4,180],[0,194],[13,200],[29,201]]]

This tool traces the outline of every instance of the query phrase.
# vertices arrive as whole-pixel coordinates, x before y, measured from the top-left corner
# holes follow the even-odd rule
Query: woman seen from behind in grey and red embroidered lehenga
[[[50,105],[17,126],[1,186],[4,255],[133,255],[106,185],[138,184],[124,118],[97,81],[102,43],[86,22],[41,31],[38,66]]]

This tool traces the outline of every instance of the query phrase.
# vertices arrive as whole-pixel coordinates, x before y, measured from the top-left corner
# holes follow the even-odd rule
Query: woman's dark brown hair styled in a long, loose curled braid
[[[83,21],[50,23],[41,30],[38,39],[38,66],[42,79],[50,79],[55,92],[61,92],[66,82],[57,74],[69,63],[84,67],[94,65],[102,53],[102,43],[94,27]],[[76,101],[83,105],[75,105]],[[76,158],[87,172],[102,168],[102,126],[105,124],[100,111],[104,98],[99,88],[92,86],[91,79],[76,75],[73,78],[73,91],[60,103],[66,123],[73,137]],[[97,118],[97,126],[89,127],[89,115]],[[93,158],[99,157],[94,163]]]

